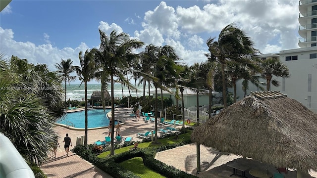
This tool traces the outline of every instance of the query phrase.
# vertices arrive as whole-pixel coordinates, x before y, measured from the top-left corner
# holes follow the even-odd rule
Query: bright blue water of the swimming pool
[[[90,109],[88,110],[88,128],[107,127],[109,126],[109,119],[106,116],[111,109]],[[85,129],[85,111],[77,111],[66,113],[64,119],[58,121],[58,124],[66,124],[67,121],[74,124],[75,128]],[[116,124],[116,122],[114,123]]]

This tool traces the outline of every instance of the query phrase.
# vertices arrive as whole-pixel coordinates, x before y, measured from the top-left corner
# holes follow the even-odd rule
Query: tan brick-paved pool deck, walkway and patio
[[[78,110],[79,109],[70,111]],[[115,109],[115,119],[125,122],[120,129],[120,134],[124,137],[131,136],[133,137],[133,140],[141,140],[135,137],[136,134],[153,130],[154,123],[145,123],[142,117],[140,118],[140,121],[136,121],[133,116],[130,116],[130,113],[130,108]],[[166,126],[158,124],[158,130],[165,127]],[[64,144],[62,143],[65,134],[68,133],[72,138],[72,147],[70,147],[70,149],[72,149],[76,145],[76,138],[83,136],[85,131],[70,130],[61,126],[55,126],[54,130],[60,137],[58,139],[60,147],[57,148],[56,158],[51,157],[46,164],[41,166],[41,170],[48,176],[48,178],[112,178],[71,151],[68,156],[66,156],[66,152],[63,148]],[[105,136],[108,136],[107,129],[89,130],[88,143],[94,143],[97,140],[105,140]],[[232,161],[262,169],[267,168],[272,173],[277,172],[276,169],[270,165],[265,165],[250,159],[244,159],[232,154],[223,155],[203,145],[200,146],[200,153],[201,172],[199,174],[197,174],[196,169],[195,143],[159,152],[156,154],[155,158],[167,165],[174,166],[187,173],[196,175],[199,178],[229,178],[232,174],[232,168],[227,165]],[[51,155],[53,155],[53,153],[51,153]],[[246,176],[251,178],[251,175],[248,172],[246,173]],[[296,172],[289,170],[288,174],[285,175],[285,178],[296,178]],[[317,172],[311,172],[311,176],[303,176],[303,178],[317,178]]]

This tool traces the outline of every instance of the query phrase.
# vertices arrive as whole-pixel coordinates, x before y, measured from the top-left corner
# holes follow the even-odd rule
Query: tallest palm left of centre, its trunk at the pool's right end
[[[100,33],[100,49],[97,52],[97,61],[102,65],[102,70],[110,77],[111,86],[111,127],[114,128],[114,77],[119,78],[126,86],[134,88],[133,85],[122,74],[124,70],[130,68],[130,60],[134,59],[134,50],[144,45],[136,39],[130,39],[126,33],[117,33],[112,31],[110,36],[107,36],[105,32],[99,30]],[[102,81],[102,85],[105,81]],[[111,132],[111,147],[110,155],[114,154],[113,149],[114,134]]]

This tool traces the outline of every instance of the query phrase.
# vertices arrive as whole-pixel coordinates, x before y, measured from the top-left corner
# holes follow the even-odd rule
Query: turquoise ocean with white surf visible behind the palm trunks
[[[78,100],[81,101],[82,98],[85,98],[85,86],[84,84],[81,85],[79,84],[71,84],[66,86],[66,100]],[[62,84],[63,89],[65,90],[65,85]],[[140,85],[137,87],[138,89],[138,97],[143,96],[143,85]],[[108,86],[108,92],[111,95],[111,86]],[[151,89],[153,90],[153,89]],[[101,91],[101,84],[87,84],[87,97],[90,99],[93,91]],[[114,84],[113,86],[113,91],[114,91],[114,97],[115,98],[122,98],[122,89],[121,89],[121,84]],[[137,92],[135,90],[131,90],[131,96],[137,96]],[[146,95],[148,95],[148,89],[146,89]],[[123,96],[129,96],[129,90],[126,87],[123,87]]]

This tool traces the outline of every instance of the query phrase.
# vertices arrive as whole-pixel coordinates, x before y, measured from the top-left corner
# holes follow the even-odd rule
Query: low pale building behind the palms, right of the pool
[[[173,101],[173,104],[176,105],[176,98],[175,98],[175,91],[176,89],[169,89],[170,92],[164,91],[162,92],[163,97],[171,98]],[[151,91],[153,93],[153,97],[155,98],[155,90]],[[160,96],[160,89],[158,89],[158,96]],[[220,103],[220,93],[217,91],[212,91],[212,95],[214,96],[212,99],[212,105]],[[181,97],[181,93],[179,91],[179,96]],[[196,106],[197,102],[197,93],[194,90],[185,88],[183,91],[183,97],[184,97],[184,108],[189,108],[191,106]],[[178,100],[178,104],[181,106],[182,100]],[[199,106],[203,105],[209,105],[209,91],[206,90],[205,93],[199,94]]]

